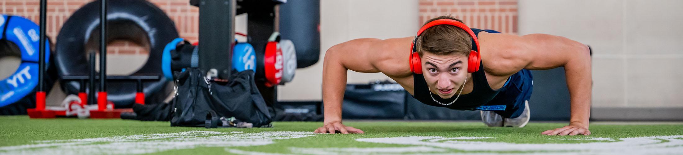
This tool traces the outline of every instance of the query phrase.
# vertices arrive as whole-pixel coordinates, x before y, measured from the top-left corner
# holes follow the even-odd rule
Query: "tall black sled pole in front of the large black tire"
[[[107,91],[107,0],[100,1],[100,91]]]

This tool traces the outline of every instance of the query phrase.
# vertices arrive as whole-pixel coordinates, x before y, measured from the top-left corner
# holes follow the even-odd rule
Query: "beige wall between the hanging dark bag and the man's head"
[[[357,38],[415,36],[419,29],[418,10],[418,1],[413,0],[320,1],[320,61],[296,70],[294,81],[278,87],[278,100],[322,100],[322,59],[328,48]],[[347,82],[368,83],[374,79],[389,77],[349,71]]]

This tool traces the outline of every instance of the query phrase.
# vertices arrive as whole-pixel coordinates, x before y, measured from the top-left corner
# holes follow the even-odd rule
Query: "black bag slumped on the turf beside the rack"
[[[244,122],[253,127],[270,126],[273,119],[254,83],[253,71],[232,70],[229,81],[208,79],[202,72],[205,71],[186,68],[175,73],[171,126],[217,128]]]

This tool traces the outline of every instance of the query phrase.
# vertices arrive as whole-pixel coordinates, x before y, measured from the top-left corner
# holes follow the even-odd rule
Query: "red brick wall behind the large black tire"
[[[48,0],[47,7],[47,27],[48,36],[55,40],[61,25],[71,16],[73,12],[89,3],[92,0]],[[115,1],[115,0],[113,0]],[[176,29],[180,37],[197,41],[199,31],[198,17],[199,10],[189,5],[188,0],[150,0],[158,8],[161,8],[176,23]],[[0,13],[15,16],[24,16],[40,22],[40,0],[0,0]],[[54,42],[54,41],[53,41]],[[147,55],[147,49],[125,40],[110,42],[107,46],[107,53],[110,54],[143,54]]]

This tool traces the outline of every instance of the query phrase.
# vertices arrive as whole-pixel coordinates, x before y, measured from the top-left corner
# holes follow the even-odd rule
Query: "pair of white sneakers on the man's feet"
[[[519,117],[516,118],[503,118],[503,116],[494,113],[493,111],[480,111],[482,115],[482,122],[489,127],[514,127],[522,128],[527,126],[529,123],[529,116],[531,111],[529,111],[529,101],[524,102],[524,111]]]

